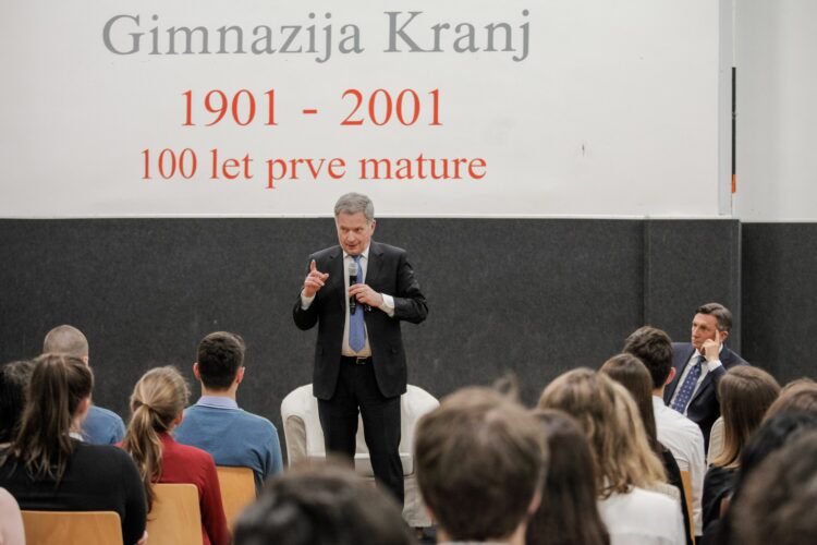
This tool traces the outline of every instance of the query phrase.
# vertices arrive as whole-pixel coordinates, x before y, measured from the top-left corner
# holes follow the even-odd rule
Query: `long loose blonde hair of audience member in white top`
[[[667,481],[635,401],[610,377],[589,368],[564,373],[545,388],[538,408],[561,409],[578,421],[590,443],[601,498]]]

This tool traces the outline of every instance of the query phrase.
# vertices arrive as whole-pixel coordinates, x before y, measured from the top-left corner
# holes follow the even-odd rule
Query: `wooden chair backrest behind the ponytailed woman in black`
[[[21,512],[28,545],[122,545],[122,522],[114,511]]]

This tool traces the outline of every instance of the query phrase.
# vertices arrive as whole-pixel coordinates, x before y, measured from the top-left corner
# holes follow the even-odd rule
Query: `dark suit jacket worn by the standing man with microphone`
[[[328,247],[310,255],[309,261],[312,259],[315,259],[318,270],[329,272],[329,278],[305,311],[301,307],[298,294],[292,314],[295,325],[301,329],[318,325],[313,390],[318,399],[330,399],[338,385],[343,324],[346,318],[343,250],[340,246]],[[419,291],[419,283],[406,261],[405,251],[375,241],[369,243],[365,282],[373,290],[394,298],[393,317],[379,308],[367,308],[364,311],[364,319],[377,386],[386,397],[400,396],[405,392],[406,386],[405,350],[400,335],[400,322],[423,322],[428,314],[426,298]],[[358,306],[357,312],[363,306]]]

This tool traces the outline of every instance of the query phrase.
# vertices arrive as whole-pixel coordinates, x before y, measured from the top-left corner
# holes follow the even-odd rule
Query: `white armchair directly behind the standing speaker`
[[[408,385],[400,398],[400,461],[403,464],[405,502],[403,519],[413,528],[431,525],[431,519],[423,506],[423,499],[414,473],[414,428],[420,416],[439,407],[439,401],[423,388]],[[312,385],[292,390],[281,402],[283,434],[286,439],[289,464],[310,458],[326,458],[324,432],[318,419],[318,400],[313,395]],[[357,423],[357,449],[355,470],[374,481],[369,451],[363,436],[363,422]]]

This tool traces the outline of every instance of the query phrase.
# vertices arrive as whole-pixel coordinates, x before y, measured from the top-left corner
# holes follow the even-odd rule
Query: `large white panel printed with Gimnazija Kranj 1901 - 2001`
[[[481,49],[484,25],[508,22],[521,40],[528,24],[527,58],[512,59],[522,55],[521,41],[515,52],[455,53],[451,29],[441,41],[446,52],[383,52],[383,12],[412,10],[423,11],[411,34],[424,47],[435,23],[475,25]],[[248,34],[256,25],[317,23],[322,38],[325,12],[336,44],[343,24],[359,27],[363,53],[334,52],[319,63],[306,53],[145,51],[156,24],[161,50],[169,26],[204,25],[215,34],[235,24]],[[105,47],[103,27],[117,14],[139,15],[138,28],[122,20],[112,37],[124,49],[129,33],[146,33],[139,53]],[[345,191],[369,193],[380,215],[716,217],[723,211],[720,23],[712,0],[8,0],[0,17],[0,217],[326,215]],[[342,94],[351,87],[416,89],[426,100],[422,121],[340,126],[352,104]],[[257,98],[275,88],[279,124],[205,126],[200,100],[214,88],[246,88]],[[442,126],[427,124],[427,92],[435,88]],[[199,100],[196,126],[182,126],[186,89]],[[154,179],[143,180],[146,148],[154,161],[163,148],[191,148],[197,172],[166,181],[154,162]],[[248,155],[252,179],[209,180],[214,148],[222,159]],[[420,153],[479,157],[487,174],[359,181],[349,168],[342,180],[322,172],[313,181],[302,167],[300,180],[265,189],[267,159],[340,157],[354,165]]]

